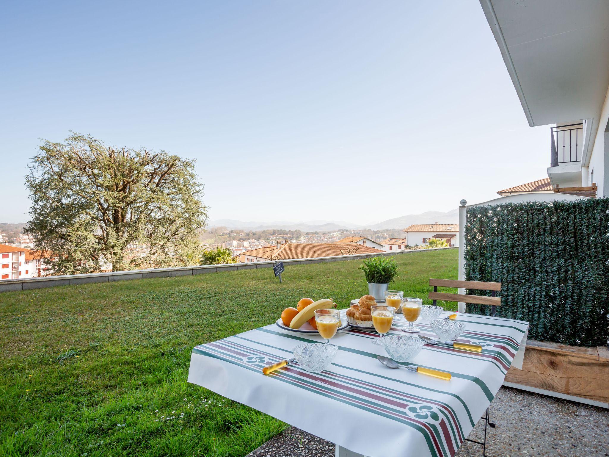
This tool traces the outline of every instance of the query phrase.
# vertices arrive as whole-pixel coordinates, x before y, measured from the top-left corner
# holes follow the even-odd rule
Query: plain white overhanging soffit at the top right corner
[[[609,0],[480,0],[529,125],[598,118]]]

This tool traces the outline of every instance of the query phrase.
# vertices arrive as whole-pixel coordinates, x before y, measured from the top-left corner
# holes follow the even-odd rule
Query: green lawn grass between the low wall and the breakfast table
[[[426,300],[457,250],[396,255]],[[1,456],[236,456],[286,424],[186,382],[191,349],[275,322],[302,297],[367,293],[361,261],[0,294]],[[456,306],[456,304],[452,304]]]

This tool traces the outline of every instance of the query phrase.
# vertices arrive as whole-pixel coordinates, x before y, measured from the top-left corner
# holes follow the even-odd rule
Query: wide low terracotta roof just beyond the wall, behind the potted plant
[[[352,252],[354,249],[357,249],[357,251]],[[349,250],[354,254],[384,252],[380,249],[359,244],[355,247],[352,243],[286,243],[282,244],[279,249],[276,246],[265,246],[242,252],[241,255],[282,260],[290,258],[336,257],[337,255],[347,255]]]

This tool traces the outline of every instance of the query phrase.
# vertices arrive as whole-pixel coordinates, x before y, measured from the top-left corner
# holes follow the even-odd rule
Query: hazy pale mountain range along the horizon
[[[283,230],[302,230],[303,232],[331,232],[333,230],[348,230],[353,228],[370,228],[371,230],[383,230],[384,228],[406,228],[411,224],[457,224],[459,222],[459,210],[442,213],[440,211],[426,211],[421,214],[406,214],[400,218],[387,219],[387,221],[376,224],[357,225],[345,221],[306,221],[306,222],[257,222],[238,221],[236,219],[216,219],[209,221],[210,227],[239,228],[241,230],[267,230],[277,228]]]

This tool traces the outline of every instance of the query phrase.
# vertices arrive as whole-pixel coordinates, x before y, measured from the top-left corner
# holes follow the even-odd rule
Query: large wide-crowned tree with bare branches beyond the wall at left
[[[171,266],[205,226],[194,161],[105,146],[90,135],[44,141],[26,175],[26,233],[55,274]]]

